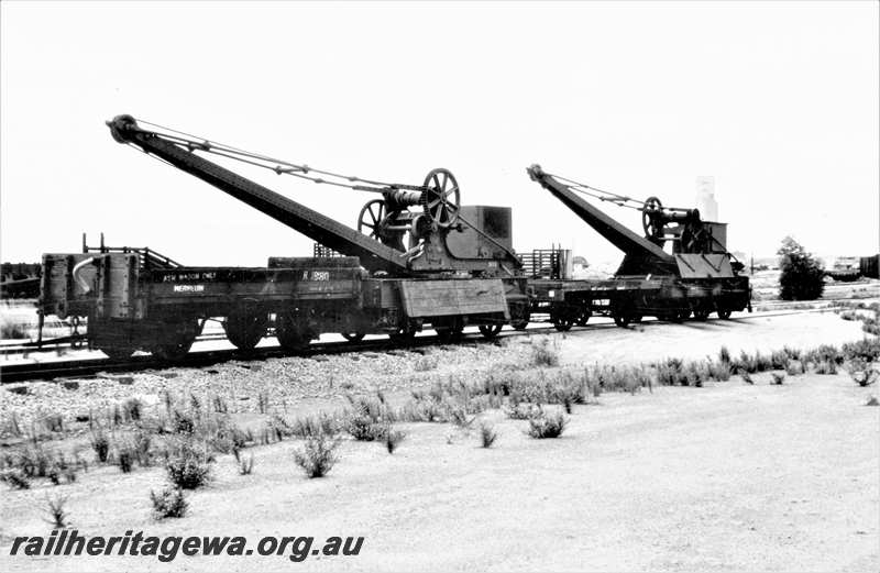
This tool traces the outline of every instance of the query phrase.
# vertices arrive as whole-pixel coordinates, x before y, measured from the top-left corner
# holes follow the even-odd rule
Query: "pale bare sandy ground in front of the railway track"
[[[813,312],[595,328],[550,340],[574,365],[859,338],[857,323]],[[527,340],[481,348],[488,360],[527,349]],[[473,368],[485,365],[480,356],[471,361]],[[466,366],[441,363],[427,374]],[[370,372],[370,362],[363,367]],[[187,384],[182,378],[167,382]],[[877,388],[860,388],[843,373],[790,376],[782,386],[769,385],[769,374],[755,379],[604,394],[598,405],[575,407],[559,440],[532,440],[527,422],[490,411],[483,418],[499,433],[491,450],[479,448],[476,431],[403,425],[408,436],[394,455],[345,441],[322,480],[306,480],[293,463],[299,441],[253,448],[252,475],[239,475],[231,456],[220,456],[216,481],[190,494],[191,513],[179,520],[151,517],[148,493],[164,486],[161,469],[99,467],[70,485],[3,488],[0,570],[878,571],[880,408],[864,406]],[[338,401],[304,398],[298,409]],[[301,563],[286,555],[172,563],[10,557],[15,536],[48,533],[42,508],[50,493],[69,496],[81,535],[240,535],[251,547],[262,536],[365,541],[358,557]]]

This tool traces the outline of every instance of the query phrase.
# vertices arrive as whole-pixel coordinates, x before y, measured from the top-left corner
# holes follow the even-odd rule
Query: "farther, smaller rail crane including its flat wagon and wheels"
[[[693,313],[705,320],[712,311],[724,319],[732,311],[750,308],[744,265],[727,251],[726,223],[703,221],[697,209],[663,207],[660,199],[638,201],[546,173],[540,165],[527,169],[529,177],[550,191],[608,242],[624,252],[615,277],[593,285],[590,294],[568,288],[568,304],[557,315],[578,320],[593,310],[607,309],[619,326],[656,316],[679,321]],[[632,232],[583,199],[590,196],[641,212],[644,236]],[[668,250],[667,250],[668,249]],[[607,308],[596,304],[607,300]],[[551,315],[552,316],[552,315]],[[564,318],[556,322],[566,322]]]

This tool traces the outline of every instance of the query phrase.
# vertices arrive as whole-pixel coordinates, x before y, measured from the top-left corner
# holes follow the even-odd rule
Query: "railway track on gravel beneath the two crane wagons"
[[[789,315],[805,315],[811,312],[827,311],[826,308],[815,309],[789,309],[789,310],[774,310],[756,312],[752,315],[743,315],[734,317],[733,322],[747,321],[755,319],[772,318],[778,316]],[[711,319],[708,322],[721,321],[721,319]],[[646,319],[644,323],[659,322],[653,319]],[[688,324],[704,324],[705,322],[688,321]],[[585,330],[600,330],[600,329],[616,329],[614,322],[596,322],[583,327],[576,327],[572,333]],[[556,333],[556,329],[551,326],[536,326],[525,331],[504,330],[497,339],[530,335],[536,333],[550,332]],[[212,339],[220,339],[222,337],[211,337]],[[200,339],[205,340],[205,339]],[[485,340],[476,333],[465,333],[459,341],[443,342],[443,344],[492,344],[495,340]],[[262,346],[252,351],[243,352],[238,349],[224,350],[209,350],[191,352],[184,361],[177,363],[163,362],[152,355],[132,356],[124,361],[113,361],[111,359],[80,359],[69,361],[54,361],[54,362],[40,362],[40,363],[25,363],[25,364],[10,364],[0,366],[0,383],[13,384],[30,381],[55,381],[55,379],[69,379],[69,378],[88,378],[95,377],[99,373],[123,373],[123,372],[143,372],[148,370],[162,370],[167,367],[208,367],[215,364],[220,364],[228,361],[255,361],[265,360],[270,357],[283,356],[314,356],[318,354],[345,354],[352,352],[369,352],[369,351],[391,351],[391,350],[407,350],[419,349],[425,346],[437,345],[440,342],[439,337],[436,334],[426,334],[417,337],[411,343],[400,346],[387,339],[362,340],[360,342],[348,341],[333,341],[333,342],[316,342],[312,343],[308,350],[299,353],[293,353],[283,350],[280,346]]]

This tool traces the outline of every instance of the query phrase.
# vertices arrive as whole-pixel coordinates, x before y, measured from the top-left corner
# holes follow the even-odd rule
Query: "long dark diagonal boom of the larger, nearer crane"
[[[108,122],[108,125],[113,139],[118,142],[132,143],[144,152],[213,185],[314,241],[344,255],[359,257],[361,265],[370,271],[389,273],[407,271],[407,263],[400,257],[397,250],[209,162],[185,148],[179,142],[168,141],[155,133],[141,130],[130,117],[117,117],[113,121]]]

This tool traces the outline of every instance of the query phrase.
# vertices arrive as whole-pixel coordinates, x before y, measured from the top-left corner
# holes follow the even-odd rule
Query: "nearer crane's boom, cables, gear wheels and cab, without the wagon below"
[[[174,130],[146,130],[131,115],[118,115],[107,124],[117,142],[140,147],[316,242],[343,255],[358,257],[371,273],[512,277],[520,266],[509,236],[509,209],[463,208],[458,181],[447,169],[431,170],[422,185],[387,184],[274,159]],[[373,192],[382,198],[364,205],[358,230],[354,230],[208,161],[197,152],[317,184]],[[469,217],[480,214],[484,216],[483,220],[469,220]],[[408,244],[404,243],[406,235]]]

